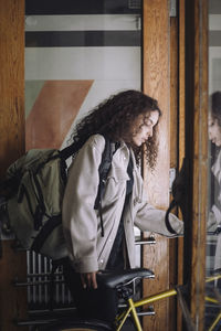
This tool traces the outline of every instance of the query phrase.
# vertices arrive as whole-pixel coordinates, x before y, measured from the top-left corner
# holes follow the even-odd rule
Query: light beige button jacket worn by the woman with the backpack
[[[104,269],[122,217],[129,149],[122,142],[113,156],[104,197],[102,200],[104,237],[101,235],[101,220],[94,210],[99,182],[98,167],[105,147],[104,137],[92,136],[82,147],[69,171],[63,200],[63,228],[70,258],[76,271],[91,273]],[[124,228],[130,267],[135,267],[134,225],[166,236],[170,234],[165,225],[165,211],[156,210],[148,202],[143,179],[136,166],[134,153],[134,188],[130,202],[124,212]],[[171,226],[182,234],[183,224],[170,214]]]

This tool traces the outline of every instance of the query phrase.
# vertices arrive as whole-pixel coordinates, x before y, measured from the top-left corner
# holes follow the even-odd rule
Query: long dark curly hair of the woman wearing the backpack
[[[139,90],[120,92],[101,103],[77,122],[72,134],[73,143],[80,149],[92,135],[96,134],[106,136],[112,141],[124,140],[133,148],[136,162],[139,163],[144,149],[141,146],[133,145],[129,128],[140,114],[144,114],[145,124],[145,115],[152,110],[157,110],[161,116],[156,99]],[[148,166],[154,169],[158,153],[157,125],[154,127],[152,137],[145,145],[144,153]]]

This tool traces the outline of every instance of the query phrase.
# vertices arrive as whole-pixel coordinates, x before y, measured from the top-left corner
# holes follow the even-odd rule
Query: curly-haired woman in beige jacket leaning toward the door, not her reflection
[[[139,172],[144,146],[149,168],[156,164],[160,116],[155,99],[141,92],[126,90],[98,105],[76,126],[73,141],[80,151],[70,168],[63,202],[63,227],[71,260],[64,273],[75,298],[84,296],[83,288],[98,296],[98,270],[135,267],[134,225],[141,231],[173,236],[165,225],[165,211],[147,202]],[[105,146],[103,136],[117,146],[102,199],[104,237],[94,210]],[[182,222],[173,214],[170,224],[177,234],[182,234]],[[85,306],[81,309],[81,302],[76,305],[81,312],[85,310]],[[94,301],[92,306],[86,308],[87,312],[94,308]],[[101,310],[97,316],[101,317]]]

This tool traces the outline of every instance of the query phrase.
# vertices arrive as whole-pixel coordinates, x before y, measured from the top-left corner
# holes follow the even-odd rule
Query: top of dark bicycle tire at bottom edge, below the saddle
[[[114,329],[98,320],[62,321],[48,325],[46,331],[113,331]]]

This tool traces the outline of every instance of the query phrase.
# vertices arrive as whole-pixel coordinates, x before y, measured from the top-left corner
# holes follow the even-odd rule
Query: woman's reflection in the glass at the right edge
[[[209,215],[209,229],[220,233],[221,228],[221,92],[214,92],[211,95],[211,111],[209,114],[209,139],[217,148],[212,173],[214,175],[213,205]],[[214,256],[214,270],[221,268],[221,234],[218,235],[218,242]]]

